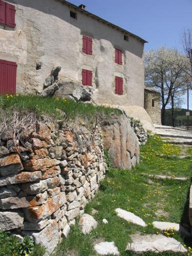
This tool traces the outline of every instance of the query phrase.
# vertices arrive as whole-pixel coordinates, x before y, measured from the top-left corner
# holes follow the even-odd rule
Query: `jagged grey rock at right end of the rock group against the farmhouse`
[[[79,86],[72,92],[72,96],[77,101],[90,101],[93,93],[91,86]]]

